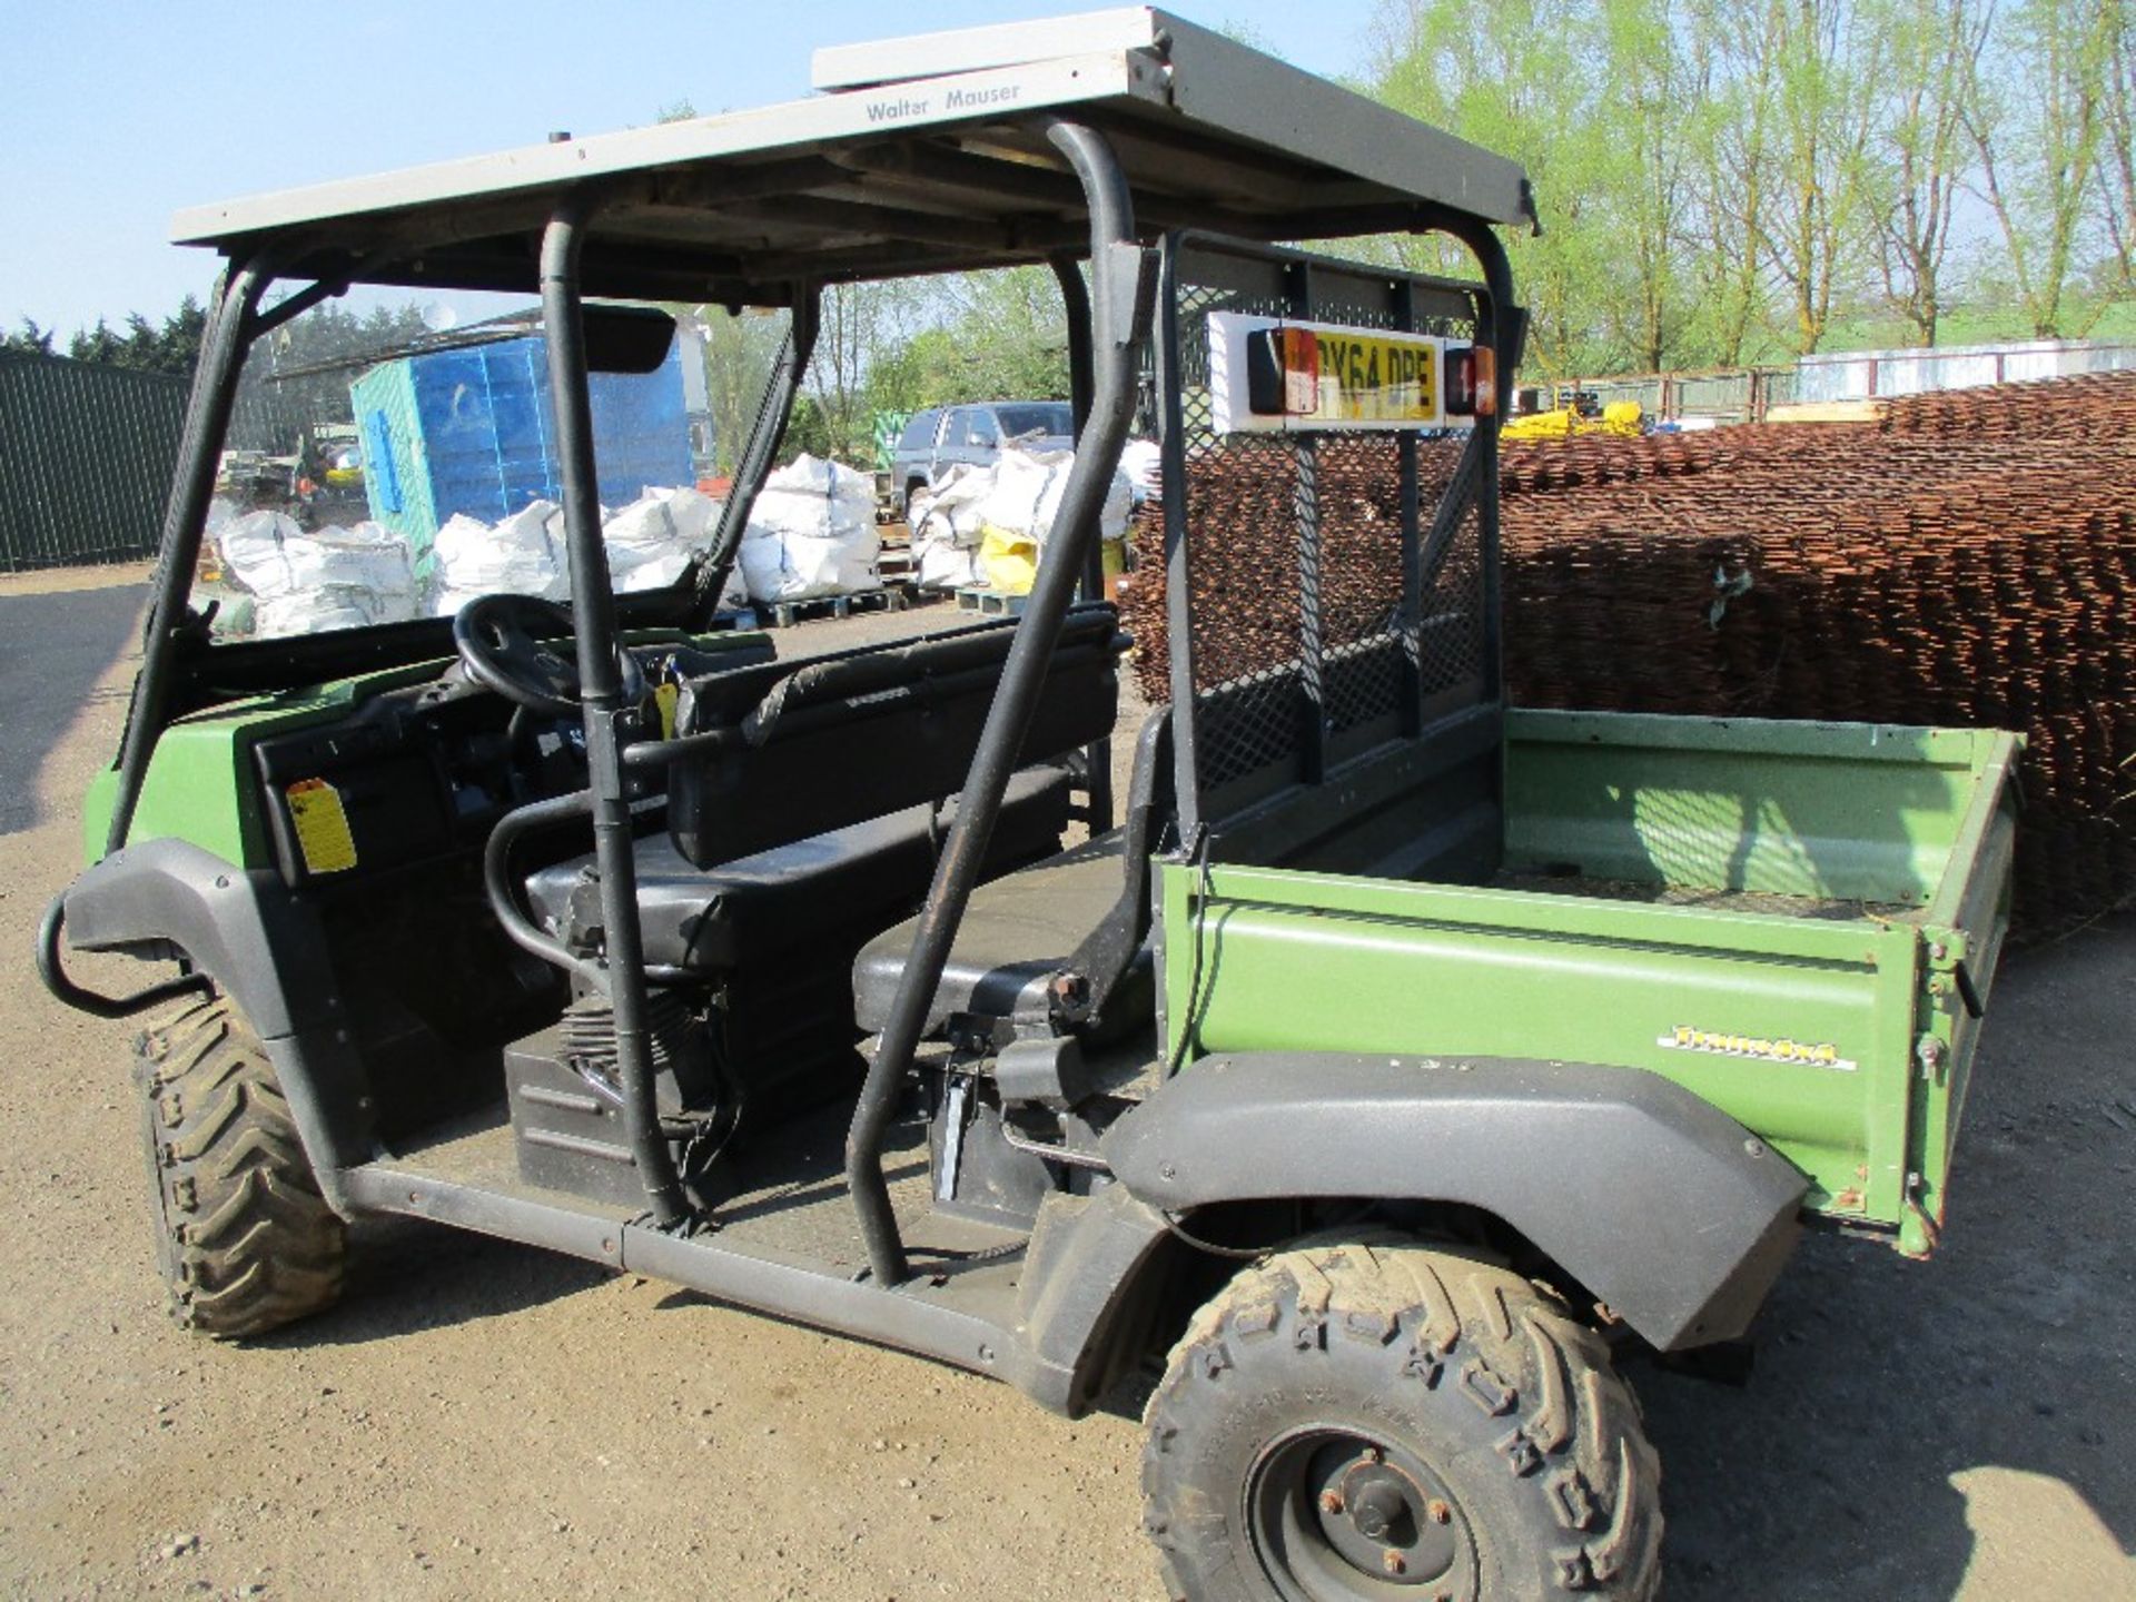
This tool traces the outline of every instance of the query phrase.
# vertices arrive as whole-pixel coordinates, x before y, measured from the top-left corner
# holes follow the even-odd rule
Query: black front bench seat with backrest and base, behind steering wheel
[[[965,782],[1015,637],[1015,624],[980,624],[684,684],[666,831],[632,848],[639,921],[656,980],[718,987],[745,1119],[775,1121],[859,1081],[854,953],[927,897],[955,818],[940,797]],[[1124,647],[1109,604],[1064,622],[985,874],[1059,852],[1064,763],[1113,728]],[[600,944],[592,854],[523,884],[564,946]]]

